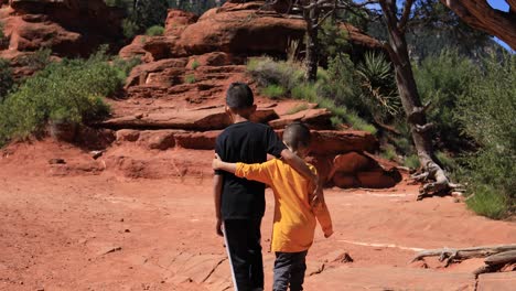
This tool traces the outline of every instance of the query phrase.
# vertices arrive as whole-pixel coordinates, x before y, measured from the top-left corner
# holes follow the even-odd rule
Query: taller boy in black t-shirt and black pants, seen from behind
[[[262,163],[267,153],[282,158],[303,176],[318,185],[303,160],[293,154],[268,126],[249,121],[255,112],[251,89],[244,83],[233,83],[226,93],[226,112],[233,125],[218,136],[215,152],[225,162]],[[214,177],[216,231],[224,236],[232,266],[235,289],[264,290],[264,262],[260,224],[265,213],[265,185],[215,171]]]

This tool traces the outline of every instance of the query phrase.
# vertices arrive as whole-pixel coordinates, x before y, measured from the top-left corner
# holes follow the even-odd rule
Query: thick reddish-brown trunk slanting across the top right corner
[[[516,50],[516,1],[508,0],[509,12],[493,9],[486,0],[441,0],[467,25],[495,35]]]

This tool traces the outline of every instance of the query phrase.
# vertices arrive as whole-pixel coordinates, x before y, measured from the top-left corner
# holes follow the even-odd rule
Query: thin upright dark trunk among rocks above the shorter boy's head
[[[318,0],[311,0],[310,4],[314,4]],[[307,72],[305,79],[315,82],[318,79],[319,65],[319,37],[318,37],[318,20],[319,9],[313,7],[303,11],[304,21],[307,22]]]

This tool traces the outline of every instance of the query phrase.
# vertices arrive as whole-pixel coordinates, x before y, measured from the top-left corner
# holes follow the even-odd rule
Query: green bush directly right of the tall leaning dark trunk
[[[422,101],[432,104],[427,118],[434,125],[441,147],[453,151],[467,148],[454,112],[456,103],[469,95],[471,84],[479,78],[479,68],[455,51],[444,50],[415,66],[413,73]]]

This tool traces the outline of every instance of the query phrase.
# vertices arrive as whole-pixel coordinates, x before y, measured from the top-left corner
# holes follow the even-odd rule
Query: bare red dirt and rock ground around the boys
[[[36,152],[28,154],[34,158]],[[214,230],[211,179],[53,176],[0,161],[0,290],[230,290]],[[43,166],[43,163],[34,162]],[[49,166],[46,166],[49,168]],[[26,169],[25,173],[22,171]],[[482,261],[408,265],[417,249],[516,241],[516,224],[474,216],[416,186],[326,191],[335,235],[318,230],[307,290],[510,290],[516,273],[471,276]],[[272,198],[262,224],[266,288]],[[353,262],[338,258],[347,252]],[[502,276],[502,277],[501,277]],[[495,284],[499,285],[495,285]]]

